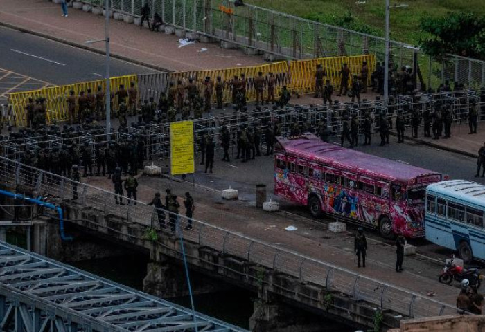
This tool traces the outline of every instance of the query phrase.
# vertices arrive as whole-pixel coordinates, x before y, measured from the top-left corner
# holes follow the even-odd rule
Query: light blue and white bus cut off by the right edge
[[[425,236],[439,246],[456,250],[469,264],[485,260],[485,186],[450,180],[426,187]]]

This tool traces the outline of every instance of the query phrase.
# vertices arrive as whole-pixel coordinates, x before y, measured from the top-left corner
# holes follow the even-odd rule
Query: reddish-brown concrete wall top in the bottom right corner
[[[485,315],[450,315],[402,320],[399,329],[388,332],[483,332]]]

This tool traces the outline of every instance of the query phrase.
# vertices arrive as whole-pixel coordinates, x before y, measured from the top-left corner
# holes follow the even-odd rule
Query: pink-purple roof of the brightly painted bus
[[[425,180],[425,176],[439,175],[440,178],[437,181],[441,180],[439,173],[326,143],[312,133],[303,133],[297,137],[288,138],[278,136],[276,140],[282,149],[295,156],[319,161],[347,172],[406,184],[415,183],[416,178],[420,176]],[[436,181],[436,177],[434,177],[434,181]],[[431,181],[425,180],[421,183],[426,182]]]

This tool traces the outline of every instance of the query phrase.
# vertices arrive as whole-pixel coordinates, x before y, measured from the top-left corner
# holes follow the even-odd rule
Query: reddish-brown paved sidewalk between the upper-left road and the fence
[[[1,0],[0,25],[105,52],[103,42],[85,44],[87,40],[105,38],[105,17],[73,8],[69,8],[69,17],[61,14],[60,4],[51,1]],[[114,19],[110,20],[109,30],[111,51],[116,57],[160,71],[197,71],[265,63],[260,55],[245,55],[242,50],[220,48],[216,43],[195,43],[179,48],[179,38],[175,35],[154,33]]]

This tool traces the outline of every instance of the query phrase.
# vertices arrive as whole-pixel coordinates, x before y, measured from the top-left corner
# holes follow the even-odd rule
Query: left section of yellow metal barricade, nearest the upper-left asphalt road
[[[118,107],[118,100],[116,98],[116,91],[119,86],[123,84],[125,89],[130,87],[130,83],[134,82],[137,86],[136,75],[125,75],[119,77],[112,77],[110,79],[112,95],[114,100],[112,104],[114,107]],[[47,112],[46,123],[51,124],[57,121],[67,120],[67,97],[69,91],[73,90],[74,95],[78,96],[81,91],[87,93],[87,89],[91,88],[91,93],[96,94],[98,86],[101,86],[103,91],[106,89],[105,80],[96,80],[90,82],[80,82],[75,84],[68,84],[63,86],[50,86],[39,90],[25,91],[18,93],[10,93],[8,96],[9,103],[12,104],[12,109],[15,114],[15,125],[17,127],[23,127],[26,125],[26,111],[25,107],[28,104],[28,98],[46,98]]]

